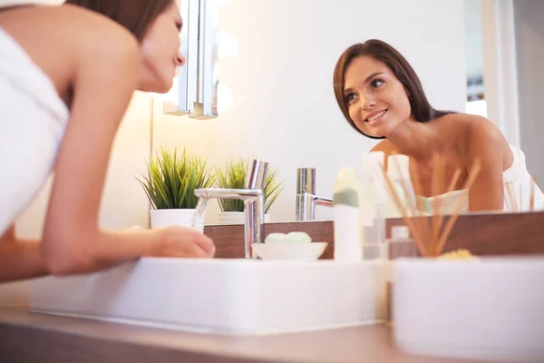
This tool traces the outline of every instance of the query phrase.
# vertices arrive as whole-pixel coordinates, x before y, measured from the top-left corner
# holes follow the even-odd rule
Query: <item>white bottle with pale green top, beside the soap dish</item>
[[[335,260],[363,260],[359,225],[360,181],[355,169],[341,168],[335,180]]]

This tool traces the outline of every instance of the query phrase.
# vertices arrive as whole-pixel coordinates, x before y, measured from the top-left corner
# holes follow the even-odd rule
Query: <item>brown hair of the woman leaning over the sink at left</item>
[[[66,0],[64,4],[106,15],[141,41],[149,25],[173,4],[173,0]]]

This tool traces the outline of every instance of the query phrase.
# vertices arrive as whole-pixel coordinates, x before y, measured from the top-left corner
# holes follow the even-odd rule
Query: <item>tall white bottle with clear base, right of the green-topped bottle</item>
[[[383,256],[385,241],[385,190],[384,152],[363,154],[359,211],[361,214],[361,238],[365,260],[386,258]]]

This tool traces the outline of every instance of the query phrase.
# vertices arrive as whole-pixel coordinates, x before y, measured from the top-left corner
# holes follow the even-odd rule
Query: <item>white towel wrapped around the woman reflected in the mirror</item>
[[[502,172],[502,184],[504,187],[503,211],[530,211],[530,191],[531,183],[534,185],[534,210],[544,210],[544,194],[539,186],[533,182],[532,177],[527,171],[525,163],[525,154],[517,146],[510,145],[513,161],[510,168]],[[428,209],[432,203],[438,200],[439,214],[452,214],[455,212],[457,203],[462,198],[463,191],[450,191],[441,195],[427,198],[428,202],[421,202],[420,205],[426,205]],[[418,199],[423,198],[419,197]],[[469,211],[468,193],[461,201],[461,213]],[[430,210],[427,212],[431,212]]]

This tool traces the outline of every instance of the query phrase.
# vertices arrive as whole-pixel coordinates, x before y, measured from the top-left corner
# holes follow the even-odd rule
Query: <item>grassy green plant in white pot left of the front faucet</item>
[[[207,160],[189,153],[185,148],[181,155],[164,148],[151,155],[147,175],[137,178],[151,202],[151,228],[166,225],[191,227],[198,198],[195,189],[210,188],[215,175]],[[195,228],[204,230],[205,213]]]

